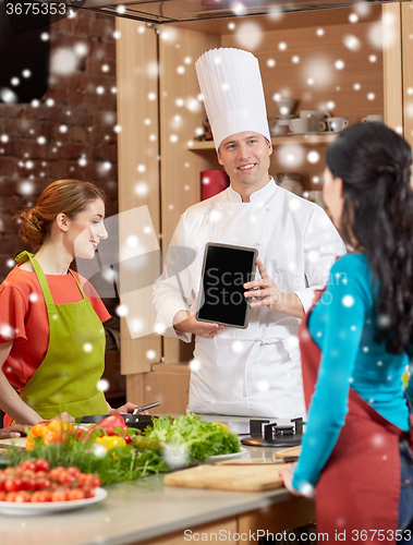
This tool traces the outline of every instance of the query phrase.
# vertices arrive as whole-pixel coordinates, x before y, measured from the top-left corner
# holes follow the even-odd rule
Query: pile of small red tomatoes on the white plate
[[[100,479],[78,468],[58,467],[50,471],[44,458],[25,460],[17,468],[0,471],[0,501],[37,504],[93,498]]]

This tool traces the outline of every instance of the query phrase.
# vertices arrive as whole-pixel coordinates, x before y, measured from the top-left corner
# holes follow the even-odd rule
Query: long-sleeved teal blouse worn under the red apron
[[[402,375],[406,353],[386,351],[374,341],[376,315],[372,271],[363,254],[336,262],[328,287],[308,318],[309,335],[321,350],[317,384],[292,485],[311,493],[344,425],[350,386],[381,416],[409,429]],[[382,319],[386,319],[384,316]],[[413,400],[413,380],[405,390]]]

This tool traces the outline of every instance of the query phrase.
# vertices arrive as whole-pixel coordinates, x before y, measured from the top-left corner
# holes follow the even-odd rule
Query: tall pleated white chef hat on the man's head
[[[195,63],[215,147],[233,134],[269,135],[258,60],[248,51],[210,49]]]

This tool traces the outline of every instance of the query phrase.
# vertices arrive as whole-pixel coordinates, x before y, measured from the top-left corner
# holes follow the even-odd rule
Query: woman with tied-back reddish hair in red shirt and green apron
[[[36,424],[117,411],[98,382],[105,366],[102,322],[110,315],[96,291],[69,267],[92,259],[104,226],[105,193],[89,182],[59,180],[20,215],[19,265],[0,286],[0,408],[4,425]],[[86,292],[86,294],[85,294]],[[17,391],[11,386],[11,384]],[[19,393],[17,393],[19,392]]]

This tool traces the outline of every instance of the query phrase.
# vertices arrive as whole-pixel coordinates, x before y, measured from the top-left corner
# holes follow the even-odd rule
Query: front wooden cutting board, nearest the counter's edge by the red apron
[[[163,477],[167,486],[215,491],[268,491],[282,486],[279,470],[284,463],[264,465],[198,465]]]

